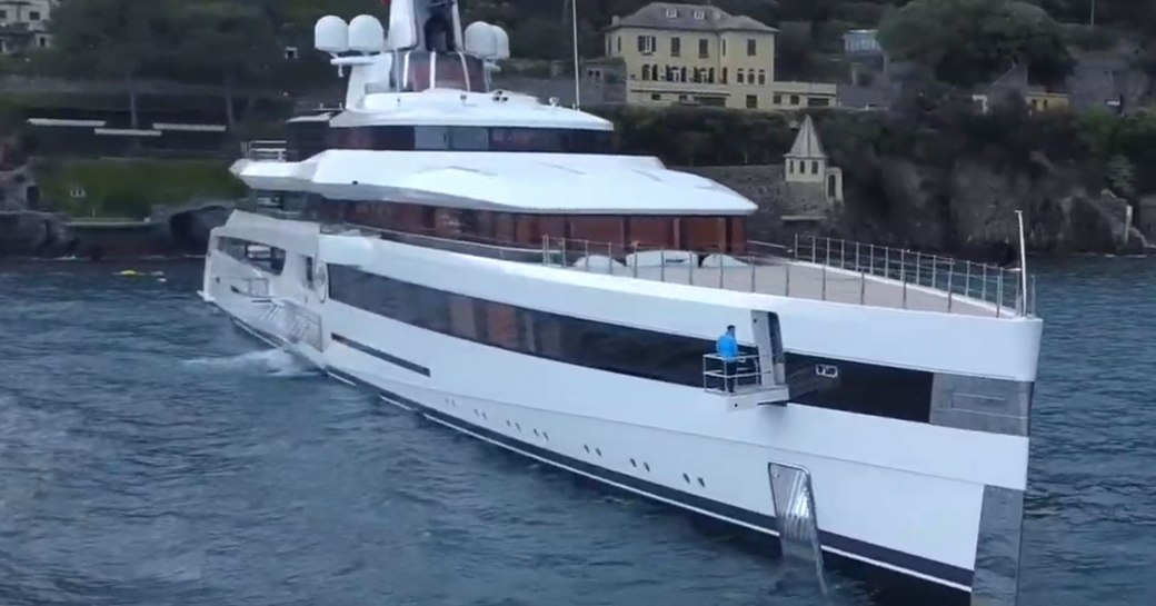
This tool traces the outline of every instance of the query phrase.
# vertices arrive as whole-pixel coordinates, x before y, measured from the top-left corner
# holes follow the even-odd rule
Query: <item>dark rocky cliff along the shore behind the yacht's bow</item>
[[[680,170],[718,180],[758,204],[748,232],[759,239],[788,242],[798,228],[784,224],[785,215],[825,216],[818,230],[832,237],[1006,261],[1017,246],[1020,209],[1029,250],[1036,252],[1146,246],[1129,224],[1127,201],[1089,192],[1075,177],[1080,171],[1053,167],[1043,156],[1027,171],[970,158],[944,171],[884,157],[869,182],[846,179],[842,205],[828,204],[821,190],[784,183],[778,164]],[[1148,223],[1156,224],[1156,210],[1149,214]]]

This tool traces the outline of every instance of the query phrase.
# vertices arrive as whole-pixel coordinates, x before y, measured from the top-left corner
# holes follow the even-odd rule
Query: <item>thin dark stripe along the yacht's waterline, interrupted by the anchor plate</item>
[[[334,368],[327,368],[327,372],[333,376],[344,379],[355,385],[360,385],[366,390],[373,391],[380,394],[383,398],[391,400],[393,402],[403,405],[406,407],[420,411],[422,414],[430,416],[431,419],[438,420],[440,422],[459,426],[475,433],[480,436],[484,436],[487,439],[491,439],[498,444],[506,445],[511,449],[528,452],[535,457],[540,457],[548,461],[553,461],[557,465],[563,465],[578,470],[583,473],[590,474],[592,476],[614,482],[617,485],[630,487],[635,490],[654,495],[660,498],[666,498],[690,508],[701,509],[703,511],[710,511],[713,515],[729,518],[733,520],[750,524],[753,526],[771,530],[777,532],[778,525],[772,516],[766,516],[763,513],[756,513],[746,509],[736,508],[727,503],[719,503],[698,495],[682,493],[666,486],[649,482],[646,480],[640,480],[638,478],[618,473],[605,467],[599,467],[590,463],[583,461],[580,459],[575,459],[565,454],[560,454],[551,450],[547,450],[534,444],[521,442],[509,436],[498,434],[484,427],[476,426],[468,421],[440,413],[433,408],[430,408],[416,400],[412,400],[401,394],[394,393],[392,391],[378,387],[370,383],[366,383],[357,377],[354,377],[347,372],[342,372]],[[832,549],[839,549],[840,552],[846,552],[855,554],[869,560],[877,562],[883,562],[897,568],[903,568],[905,570],[911,570],[926,575],[929,577],[943,579],[950,583],[956,583],[958,585],[971,586],[975,574],[965,568],[958,568],[951,564],[946,564],[943,562],[936,562],[934,560],[928,560],[920,557],[918,555],[912,555],[909,553],[899,552],[897,549],[891,549],[889,547],[882,547],[879,545],[861,541],[859,539],[852,539],[850,537],[844,537],[842,534],[835,534],[827,531],[820,531],[820,542],[824,547],[830,547]],[[839,556],[839,554],[831,554]],[[869,563],[869,562],[867,562]]]

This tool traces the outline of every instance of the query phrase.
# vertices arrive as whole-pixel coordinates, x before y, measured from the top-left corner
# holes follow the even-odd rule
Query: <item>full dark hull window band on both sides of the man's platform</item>
[[[428,331],[595,370],[702,386],[703,355],[714,353],[712,340],[468,297],[347,266],[331,265],[328,274],[333,301]],[[755,353],[740,346],[741,355]],[[793,402],[929,421],[931,372],[792,353],[785,357]]]

